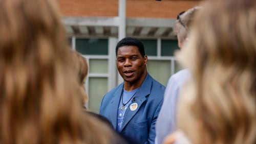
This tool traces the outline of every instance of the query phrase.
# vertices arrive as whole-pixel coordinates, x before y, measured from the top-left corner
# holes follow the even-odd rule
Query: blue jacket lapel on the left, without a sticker
[[[117,111],[118,111],[118,106],[121,98],[121,92],[122,92],[123,84],[120,84],[119,87],[117,88],[116,92],[113,95],[113,98],[111,100],[111,107],[110,107],[110,119],[112,122],[113,127],[116,129],[116,123],[117,123]]]

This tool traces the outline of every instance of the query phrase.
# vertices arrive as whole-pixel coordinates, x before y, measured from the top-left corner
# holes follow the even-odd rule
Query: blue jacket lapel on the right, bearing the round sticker
[[[133,116],[138,112],[138,110],[140,109],[140,106],[146,100],[146,96],[148,94],[150,94],[150,92],[151,92],[151,85],[152,85],[152,77],[149,74],[147,74],[145,80],[143,81],[143,83],[141,84],[141,86],[139,88],[139,91],[134,95],[135,100],[132,101],[132,103],[131,103],[131,104],[137,103],[138,107],[137,107],[137,109],[135,111],[132,111],[130,109],[130,106],[127,107],[121,131],[130,122],[130,120],[133,118]]]

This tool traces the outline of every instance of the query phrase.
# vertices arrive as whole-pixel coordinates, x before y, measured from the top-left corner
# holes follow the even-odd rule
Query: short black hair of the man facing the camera
[[[144,50],[144,45],[143,45],[142,41],[140,41],[139,39],[134,38],[134,37],[125,37],[117,43],[116,56],[117,56],[117,51],[118,51],[119,47],[130,46],[130,45],[137,46],[141,56],[142,57],[145,56],[145,50]]]

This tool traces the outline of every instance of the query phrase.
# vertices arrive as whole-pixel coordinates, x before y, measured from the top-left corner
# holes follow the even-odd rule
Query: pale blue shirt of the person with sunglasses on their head
[[[190,78],[188,69],[178,71],[169,78],[164,92],[164,100],[156,123],[155,143],[161,144],[164,138],[176,130],[176,112],[179,93],[183,84]]]

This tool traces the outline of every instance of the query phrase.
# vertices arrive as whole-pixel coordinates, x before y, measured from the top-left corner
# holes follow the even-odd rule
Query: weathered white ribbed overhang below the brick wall
[[[126,36],[176,39],[174,18],[126,18]],[[62,17],[70,36],[117,37],[119,17]]]

